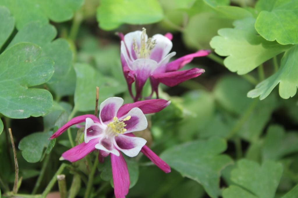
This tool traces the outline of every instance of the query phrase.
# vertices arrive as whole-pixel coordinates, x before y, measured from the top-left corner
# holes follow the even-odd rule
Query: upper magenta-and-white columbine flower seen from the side
[[[142,98],[142,88],[150,78],[152,93],[156,92],[158,98],[158,85],[163,83],[173,87],[190,78],[195,78],[205,72],[204,69],[193,68],[190,70],[178,71],[184,65],[191,62],[194,57],[207,56],[210,51],[200,50],[193,54],[188,54],[173,62],[170,58],[176,55],[176,52],[169,54],[172,49],[172,34],[165,36],[155,34],[148,38],[146,29],[135,31],[125,36],[119,33],[121,38],[121,62],[125,79],[128,84],[128,90],[135,101]],[[132,94],[131,85],[136,82],[136,96]]]

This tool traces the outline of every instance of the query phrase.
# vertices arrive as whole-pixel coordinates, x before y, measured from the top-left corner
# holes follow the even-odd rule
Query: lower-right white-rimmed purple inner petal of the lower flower
[[[140,137],[130,137],[119,134],[115,137],[114,145],[128,157],[135,157],[139,154],[146,142],[145,139]]]

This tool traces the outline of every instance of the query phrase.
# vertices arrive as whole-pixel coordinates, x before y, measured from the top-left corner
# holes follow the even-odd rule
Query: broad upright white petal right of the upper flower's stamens
[[[173,43],[162,34],[155,34],[152,37],[152,40],[156,41],[156,45],[151,51],[150,59],[160,62],[165,56],[167,56],[167,54],[169,54],[173,47]]]

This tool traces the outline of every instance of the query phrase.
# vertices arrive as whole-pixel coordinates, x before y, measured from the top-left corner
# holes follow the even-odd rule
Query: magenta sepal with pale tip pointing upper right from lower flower
[[[144,114],[156,113],[169,106],[170,103],[170,101],[164,99],[153,99],[124,104],[118,110],[117,117],[124,117],[134,107],[141,109]]]

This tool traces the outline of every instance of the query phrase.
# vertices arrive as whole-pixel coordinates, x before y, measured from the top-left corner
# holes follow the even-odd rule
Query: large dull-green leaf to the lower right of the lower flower
[[[221,170],[232,163],[232,159],[220,153],[226,150],[223,139],[211,138],[177,145],[164,151],[161,158],[183,176],[200,183],[210,197],[220,195]]]

